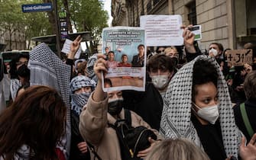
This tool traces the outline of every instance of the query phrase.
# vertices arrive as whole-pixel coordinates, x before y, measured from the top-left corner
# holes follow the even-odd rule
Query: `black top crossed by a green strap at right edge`
[[[235,115],[235,124],[238,126],[239,130],[244,133],[246,139],[248,139],[247,142],[249,142],[251,137],[249,136],[248,131],[245,127],[244,120],[241,117],[240,104],[236,104],[233,107],[233,110]],[[256,133],[256,101],[245,101],[245,110],[248,115],[248,120],[250,121],[251,128],[252,130],[254,130],[254,133]]]

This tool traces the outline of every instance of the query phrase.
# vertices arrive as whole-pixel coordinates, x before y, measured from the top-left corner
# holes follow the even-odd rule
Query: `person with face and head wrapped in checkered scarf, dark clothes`
[[[70,82],[71,91],[71,147],[70,159],[89,159],[87,144],[79,133],[79,115],[87,104],[90,94],[94,90],[96,82],[84,76],[77,75]]]

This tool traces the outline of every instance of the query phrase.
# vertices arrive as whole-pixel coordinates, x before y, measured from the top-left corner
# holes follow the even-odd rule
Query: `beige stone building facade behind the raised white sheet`
[[[219,42],[239,49],[256,43],[254,0],[112,0],[112,26],[139,26],[145,14],[180,14],[183,24],[202,25],[200,48]]]

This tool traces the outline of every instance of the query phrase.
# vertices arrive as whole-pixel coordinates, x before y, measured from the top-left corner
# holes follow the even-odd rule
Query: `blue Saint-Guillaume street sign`
[[[51,3],[42,3],[42,4],[31,4],[31,5],[22,5],[22,12],[35,12],[35,11],[52,11],[53,5]]]

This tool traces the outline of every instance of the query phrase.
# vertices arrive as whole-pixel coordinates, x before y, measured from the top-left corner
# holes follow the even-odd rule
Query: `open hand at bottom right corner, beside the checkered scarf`
[[[241,145],[239,146],[239,155],[243,160],[256,159],[256,133],[251,137],[250,142],[245,146],[245,137],[241,138]]]

